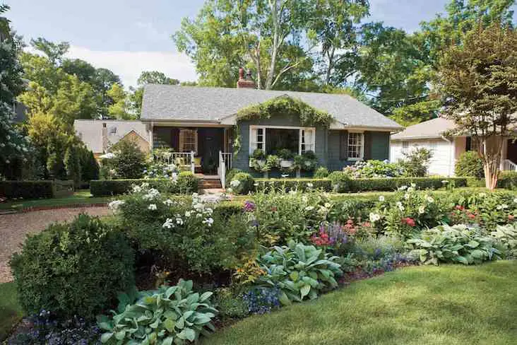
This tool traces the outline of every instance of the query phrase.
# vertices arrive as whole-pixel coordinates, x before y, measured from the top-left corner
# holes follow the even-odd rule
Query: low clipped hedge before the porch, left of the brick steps
[[[192,172],[180,172],[176,182],[167,178],[159,179],[125,179],[125,180],[91,180],[90,193],[94,197],[106,197],[129,192],[133,185],[146,182],[160,192],[172,194],[191,194],[198,191],[198,178]]]

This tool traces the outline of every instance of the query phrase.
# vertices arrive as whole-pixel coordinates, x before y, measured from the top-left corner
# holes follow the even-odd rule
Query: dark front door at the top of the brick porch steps
[[[221,128],[198,129],[198,156],[201,156],[203,174],[217,175],[219,151],[222,151]]]

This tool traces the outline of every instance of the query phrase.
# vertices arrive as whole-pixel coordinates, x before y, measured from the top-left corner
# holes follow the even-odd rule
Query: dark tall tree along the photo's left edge
[[[0,14],[8,9],[0,5]],[[30,146],[23,131],[13,122],[14,100],[24,86],[18,62],[21,43],[12,35],[8,23],[0,17],[0,176],[17,178],[13,166],[28,159]]]

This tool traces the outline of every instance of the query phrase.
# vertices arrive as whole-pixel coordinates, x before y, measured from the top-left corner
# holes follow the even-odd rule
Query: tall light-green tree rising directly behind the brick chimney
[[[246,65],[256,71],[258,88],[272,89],[310,59],[308,2],[208,0],[173,38],[196,63],[203,85],[234,87],[237,67]]]

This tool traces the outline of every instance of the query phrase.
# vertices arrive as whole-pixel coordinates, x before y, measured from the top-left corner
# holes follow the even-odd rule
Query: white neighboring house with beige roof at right
[[[428,148],[433,153],[429,174],[452,176],[460,155],[465,151],[476,151],[475,143],[470,136],[447,135],[454,128],[454,122],[443,117],[407,127],[391,136],[390,160],[403,158],[403,153],[415,147]],[[505,140],[501,154],[501,170],[515,170],[517,143],[511,139]]]

